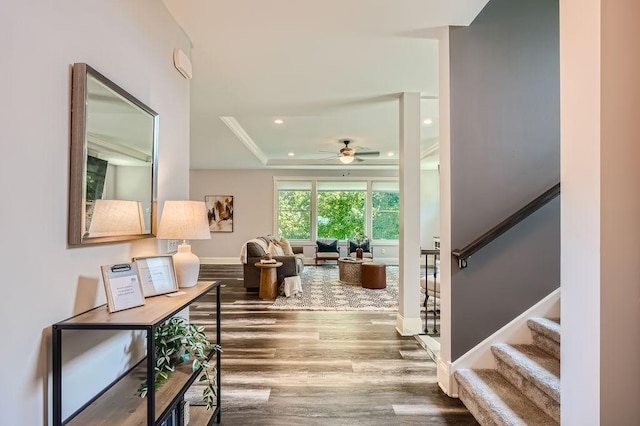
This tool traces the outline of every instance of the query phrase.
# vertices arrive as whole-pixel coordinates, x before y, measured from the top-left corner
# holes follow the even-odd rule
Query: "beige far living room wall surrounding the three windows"
[[[245,241],[274,230],[274,176],[301,176],[304,178],[331,177],[344,179],[343,170],[191,170],[190,193],[192,200],[203,200],[205,195],[233,195],[233,232],[216,232],[210,240],[191,241],[191,249],[202,262],[239,262],[240,249]],[[397,176],[395,171],[352,171],[354,177]],[[305,247],[305,256],[312,258],[315,246]],[[381,253],[385,249],[385,254]],[[344,253],[343,253],[344,254]],[[398,246],[374,245],[377,259],[397,259]]]

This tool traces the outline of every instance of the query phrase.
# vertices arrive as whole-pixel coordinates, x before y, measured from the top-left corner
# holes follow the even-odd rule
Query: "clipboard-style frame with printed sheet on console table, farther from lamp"
[[[109,312],[113,313],[144,305],[142,286],[138,281],[135,263],[104,265],[101,266],[101,269]]]

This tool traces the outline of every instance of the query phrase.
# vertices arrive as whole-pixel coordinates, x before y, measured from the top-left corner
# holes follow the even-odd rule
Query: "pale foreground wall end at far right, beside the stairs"
[[[562,424],[640,417],[638,16],[560,1]]]

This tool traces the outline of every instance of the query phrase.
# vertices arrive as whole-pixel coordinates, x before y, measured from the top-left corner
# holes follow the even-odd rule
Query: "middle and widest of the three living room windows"
[[[318,182],[318,238],[348,240],[365,233],[366,182]]]

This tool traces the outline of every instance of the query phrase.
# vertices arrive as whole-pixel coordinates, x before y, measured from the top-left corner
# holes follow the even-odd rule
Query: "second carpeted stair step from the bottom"
[[[560,361],[533,345],[500,343],[493,345],[491,351],[496,358],[560,403]]]

